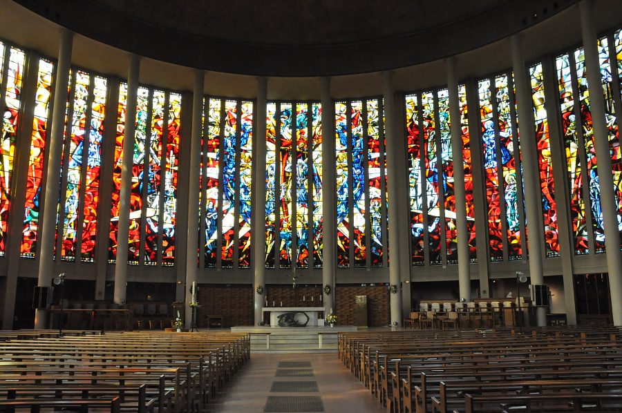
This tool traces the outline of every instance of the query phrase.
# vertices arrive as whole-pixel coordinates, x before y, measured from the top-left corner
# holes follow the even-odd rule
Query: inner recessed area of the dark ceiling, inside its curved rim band
[[[133,21],[257,45],[334,45],[468,20],[507,0],[93,0]]]

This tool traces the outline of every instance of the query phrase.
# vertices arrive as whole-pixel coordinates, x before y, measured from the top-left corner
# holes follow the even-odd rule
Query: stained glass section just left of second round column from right
[[[511,75],[502,74],[478,84],[491,261],[502,261],[506,249],[509,260],[522,258],[524,252],[525,209],[511,82]]]

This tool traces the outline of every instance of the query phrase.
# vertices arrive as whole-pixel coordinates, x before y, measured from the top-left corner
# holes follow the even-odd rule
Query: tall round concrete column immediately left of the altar
[[[265,301],[265,133],[266,133],[267,77],[257,77],[257,102],[255,106],[255,187],[253,206],[253,267],[255,282],[253,288],[255,325],[263,320],[261,307]],[[257,287],[263,287],[258,294]]]

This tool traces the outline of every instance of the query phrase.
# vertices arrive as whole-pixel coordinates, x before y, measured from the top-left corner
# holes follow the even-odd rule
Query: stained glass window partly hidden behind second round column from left
[[[117,108],[109,262],[115,262],[127,85]],[[138,88],[129,205],[128,264],[175,264],[181,95]],[[142,240],[142,251],[141,251]]]

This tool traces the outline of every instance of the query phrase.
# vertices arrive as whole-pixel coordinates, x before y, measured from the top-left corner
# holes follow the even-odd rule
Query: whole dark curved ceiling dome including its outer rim
[[[14,0],[138,55],[283,77],[401,68],[484,46],[578,0]]]

